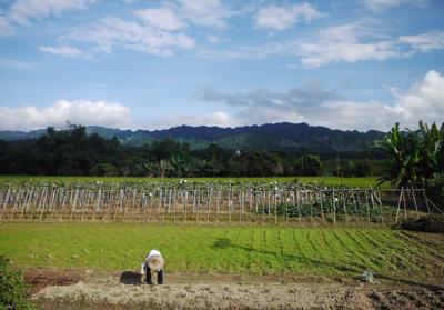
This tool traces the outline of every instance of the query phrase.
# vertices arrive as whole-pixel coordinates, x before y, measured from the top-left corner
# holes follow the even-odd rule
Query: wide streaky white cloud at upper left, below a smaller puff
[[[192,49],[195,41],[186,34],[173,33],[119,18],[104,18],[92,29],[72,33],[70,39],[89,42],[98,51],[112,52],[114,47],[158,56],[172,56],[173,49]]]

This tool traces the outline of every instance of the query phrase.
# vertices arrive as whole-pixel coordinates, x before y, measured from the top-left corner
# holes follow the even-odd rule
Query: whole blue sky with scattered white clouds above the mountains
[[[444,1],[0,0],[0,130],[444,122]]]

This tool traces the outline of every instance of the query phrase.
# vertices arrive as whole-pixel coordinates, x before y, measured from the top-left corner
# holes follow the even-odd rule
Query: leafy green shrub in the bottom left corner
[[[0,309],[36,309],[27,297],[21,272],[10,267],[8,258],[0,256]]]

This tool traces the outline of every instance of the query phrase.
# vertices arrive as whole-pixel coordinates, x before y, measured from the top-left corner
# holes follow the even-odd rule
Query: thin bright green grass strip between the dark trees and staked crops
[[[365,188],[375,187],[377,177],[365,177],[365,178],[336,178],[336,177],[280,177],[280,178],[184,178],[188,182],[293,182],[299,180],[302,182],[322,182],[326,186],[345,186],[351,188]],[[172,181],[178,182],[181,178],[123,178],[123,177],[36,177],[36,176],[0,176],[0,183],[8,182],[23,182],[23,181],[48,181],[48,182],[159,182],[159,181]],[[383,183],[382,188],[389,188],[390,184]]]

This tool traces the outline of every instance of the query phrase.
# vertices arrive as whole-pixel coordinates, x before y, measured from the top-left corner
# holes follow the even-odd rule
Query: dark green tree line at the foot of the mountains
[[[320,157],[306,152],[193,150],[185,142],[154,140],[142,147],[87,134],[82,126],[48,128],[37,140],[0,141],[1,174],[133,177],[364,177],[380,174],[381,158],[369,153]]]

